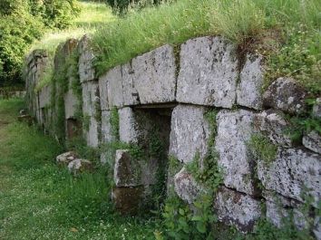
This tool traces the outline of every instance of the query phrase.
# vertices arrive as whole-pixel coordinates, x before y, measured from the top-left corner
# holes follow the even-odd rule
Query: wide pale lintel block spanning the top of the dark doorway
[[[172,46],[164,45],[138,56],[131,64],[141,104],[175,101],[176,66]]]

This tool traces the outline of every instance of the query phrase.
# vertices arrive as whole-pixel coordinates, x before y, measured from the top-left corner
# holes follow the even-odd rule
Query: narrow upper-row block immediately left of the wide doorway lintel
[[[122,65],[122,96],[125,106],[140,104],[140,96],[134,85],[134,77],[131,63]]]

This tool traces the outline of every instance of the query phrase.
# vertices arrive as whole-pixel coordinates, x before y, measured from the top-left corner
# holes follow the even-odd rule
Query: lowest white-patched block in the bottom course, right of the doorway
[[[236,226],[242,232],[251,231],[261,215],[258,200],[225,187],[219,190],[214,207],[219,221]]]

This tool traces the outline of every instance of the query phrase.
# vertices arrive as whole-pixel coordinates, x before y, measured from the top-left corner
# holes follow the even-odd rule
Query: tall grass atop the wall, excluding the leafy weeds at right
[[[221,34],[233,43],[267,29],[305,24],[320,31],[318,0],[180,0],[128,14],[93,34],[98,74],[164,43]]]

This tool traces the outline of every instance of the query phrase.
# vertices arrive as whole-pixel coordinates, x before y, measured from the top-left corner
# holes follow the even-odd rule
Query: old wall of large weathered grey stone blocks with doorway
[[[279,78],[262,91],[264,57],[248,53],[239,59],[237,47],[221,37],[191,39],[178,49],[180,53],[171,45],[161,46],[96,78],[90,39],[84,36],[77,43],[87,144],[99,148],[120,141],[127,144],[123,146],[139,146],[149,157],[133,158],[131,149],[117,149],[112,162],[116,206],[131,212],[133,206],[141,205],[160,174],[168,178],[167,188],[173,187],[192,204],[203,187],[184,165],[198,157],[202,168],[203,159],[214,150],[223,175],[213,202],[220,221],[247,232],[260,216],[280,226],[281,218],[293,211],[297,227],[304,228],[307,219],[299,206],[307,204],[314,234],[320,239],[315,213],[321,196],[321,136],[311,131],[294,141],[287,133],[287,115],[306,111],[306,91],[290,78]],[[43,52],[32,53],[26,75],[29,109],[44,129],[50,126],[48,116],[56,114],[53,107],[45,108],[50,105],[52,85],[34,93],[46,59]],[[73,119],[77,98],[68,88],[63,100],[68,137],[68,124],[73,125],[68,120]],[[320,118],[320,104],[318,99],[315,118]],[[216,120],[209,122],[205,115],[213,110]],[[112,130],[115,113],[118,136]],[[210,128],[213,124],[215,136]],[[155,136],[163,143],[165,157],[148,151]],[[212,146],[210,138],[214,138]],[[253,149],[256,144],[262,146],[253,143],[255,139],[267,145]],[[275,152],[269,152],[267,161],[262,151],[269,148]],[[167,164],[161,163],[168,156],[183,164],[174,174],[166,174]],[[304,195],[310,196],[309,202],[305,203]]]

